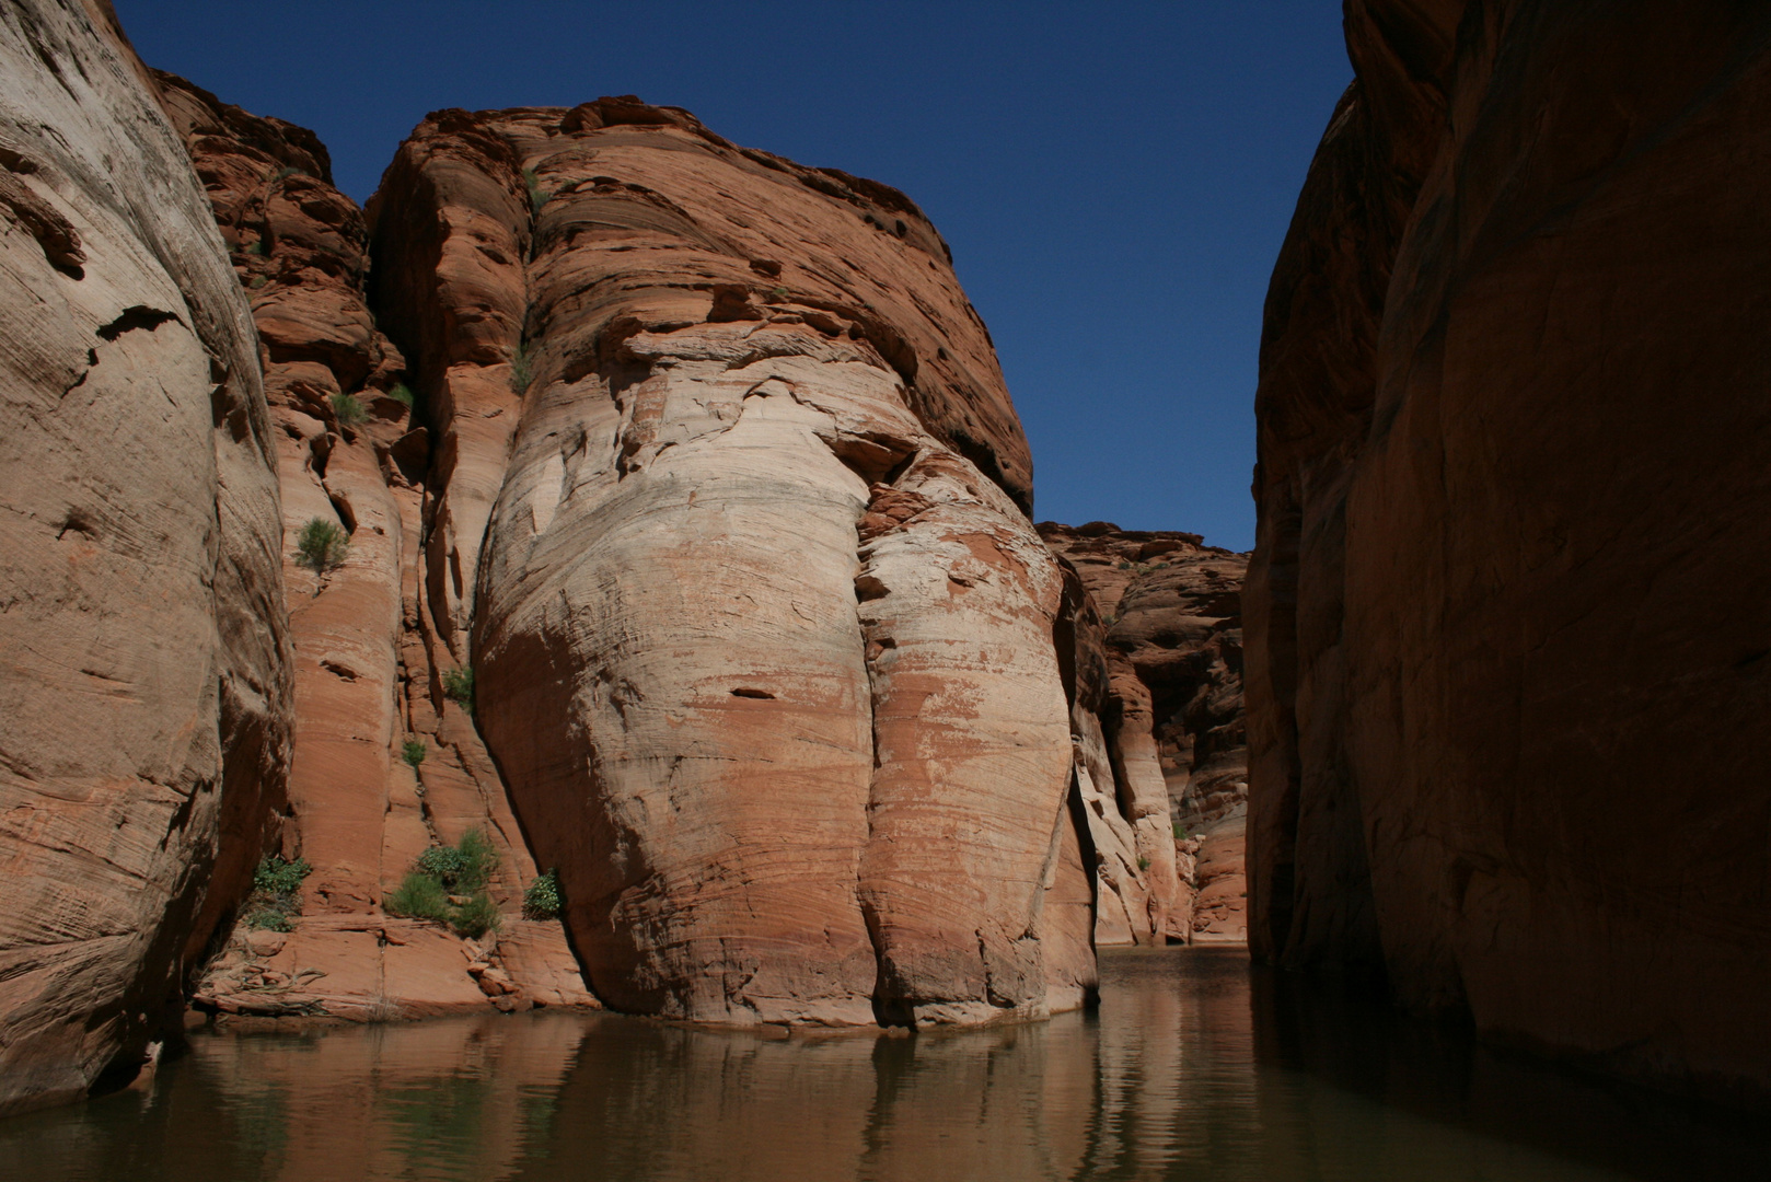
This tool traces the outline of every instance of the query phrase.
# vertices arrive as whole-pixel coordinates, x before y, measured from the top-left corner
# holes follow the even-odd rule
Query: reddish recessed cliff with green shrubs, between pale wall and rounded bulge
[[[443,691],[441,670],[459,661],[430,624],[420,569],[430,434],[365,303],[363,213],[333,188],[312,131],[154,76],[264,344],[296,686],[282,852],[313,867],[296,930],[237,932],[198,999],[354,1019],[590,1003],[560,925],[521,916],[535,863],[466,707]],[[349,537],[340,564],[301,556],[312,521]],[[407,743],[420,762],[404,758]],[[469,829],[499,859],[503,920],[485,948],[384,909],[425,849]]]

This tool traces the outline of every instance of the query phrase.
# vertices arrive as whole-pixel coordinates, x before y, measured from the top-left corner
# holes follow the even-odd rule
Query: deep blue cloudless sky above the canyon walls
[[[367,198],[439,106],[639,94],[905,190],[1032,439],[1038,517],[1254,544],[1261,301],[1351,78],[1335,0],[115,0]]]

